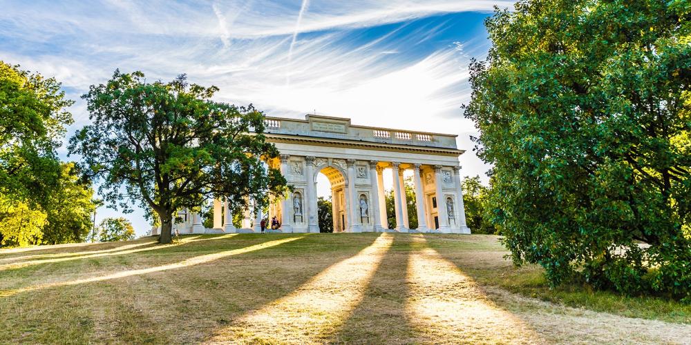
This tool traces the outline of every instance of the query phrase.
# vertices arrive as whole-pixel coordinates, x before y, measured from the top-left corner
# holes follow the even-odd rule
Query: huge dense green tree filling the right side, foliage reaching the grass
[[[684,0],[520,1],[486,21],[465,115],[516,264],[691,299],[690,23]]]

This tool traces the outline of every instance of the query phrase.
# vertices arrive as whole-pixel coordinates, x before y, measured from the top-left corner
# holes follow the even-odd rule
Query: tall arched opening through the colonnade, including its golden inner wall
[[[343,173],[325,166],[316,175],[317,217],[322,233],[342,233],[348,227],[348,198]]]

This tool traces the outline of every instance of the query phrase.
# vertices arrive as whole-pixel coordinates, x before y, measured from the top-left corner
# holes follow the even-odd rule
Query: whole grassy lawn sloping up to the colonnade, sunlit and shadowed
[[[691,339],[689,306],[549,290],[504,254],[495,236],[389,233],[0,250],[0,343]]]

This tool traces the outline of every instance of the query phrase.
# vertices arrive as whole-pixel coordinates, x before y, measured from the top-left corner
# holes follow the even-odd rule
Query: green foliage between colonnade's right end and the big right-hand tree
[[[480,176],[467,177],[462,182],[463,204],[466,223],[476,234],[494,234],[497,228],[492,224],[489,205],[489,187],[483,186]]]

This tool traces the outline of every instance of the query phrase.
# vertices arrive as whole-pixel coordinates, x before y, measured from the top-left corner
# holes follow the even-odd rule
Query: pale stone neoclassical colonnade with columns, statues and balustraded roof
[[[259,221],[276,217],[283,233],[319,233],[316,178],[319,173],[331,184],[334,232],[471,233],[461,190],[456,135],[411,132],[390,128],[355,126],[350,119],[306,115],[305,119],[267,117],[267,140],[281,155],[267,161],[280,168],[294,191],[282,200],[272,200],[269,214],[245,213],[242,228],[220,200],[214,200],[214,228],[202,226],[196,214],[173,230],[180,233],[258,232]],[[392,170],[395,215],[387,215],[384,169]],[[410,229],[404,187],[404,171],[412,170],[418,226]],[[225,213],[225,215],[224,215]],[[395,228],[387,219],[395,217]],[[154,230],[155,231],[155,230]]]

